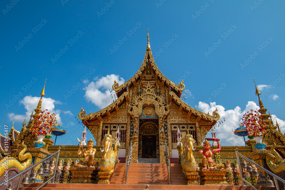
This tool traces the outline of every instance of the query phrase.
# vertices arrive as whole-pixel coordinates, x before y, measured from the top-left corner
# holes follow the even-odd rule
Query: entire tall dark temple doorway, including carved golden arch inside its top
[[[140,120],[138,158],[159,158],[158,120]]]

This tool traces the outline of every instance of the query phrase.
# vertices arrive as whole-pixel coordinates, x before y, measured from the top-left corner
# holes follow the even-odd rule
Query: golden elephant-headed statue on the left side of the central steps
[[[112,144],[115,143],[114,148],[112,148]],[[103,156],[99,161],[100,171],[105,171],[109,173],[113,173],[115,163],[117,162],[117,141],[112,138],[110,134],[110,130],[108,133],[104,135],[102,140],[103,150],[100,148],[101,152],[103,152]]]

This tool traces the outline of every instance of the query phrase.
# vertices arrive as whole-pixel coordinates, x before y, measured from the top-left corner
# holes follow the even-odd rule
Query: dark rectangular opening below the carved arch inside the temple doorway
[[[142,135],[142,158],[156,158],[156,135]]]

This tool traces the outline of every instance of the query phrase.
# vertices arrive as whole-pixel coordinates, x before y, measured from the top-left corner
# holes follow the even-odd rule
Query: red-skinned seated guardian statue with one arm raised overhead
[[[207,140],[205,140],[205,142],[203,142],[204,149],[198,151],[198,153],[203,154],[203,160],[202,160],[203,168],[202,169],[221,169],[224,167],[223,164],[214,163],[213,161],[213,153],[219,152],[221,150],[219,139],[216,138],[215,141],[218,144],[217,149],[211,150],[210,143]]]

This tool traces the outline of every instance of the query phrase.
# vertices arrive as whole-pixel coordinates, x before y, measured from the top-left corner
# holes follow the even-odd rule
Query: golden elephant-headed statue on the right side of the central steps
[[[195,142],[192,134],[189,134],[187,130],[187,134],[185,138],[180,140],[180,159],[181,159],[181,166],[182,172],[186,174],[186,172],[196,172],[197,163],[193,156],[193,142]],[[182,146],[182,143],[184,146]]]

